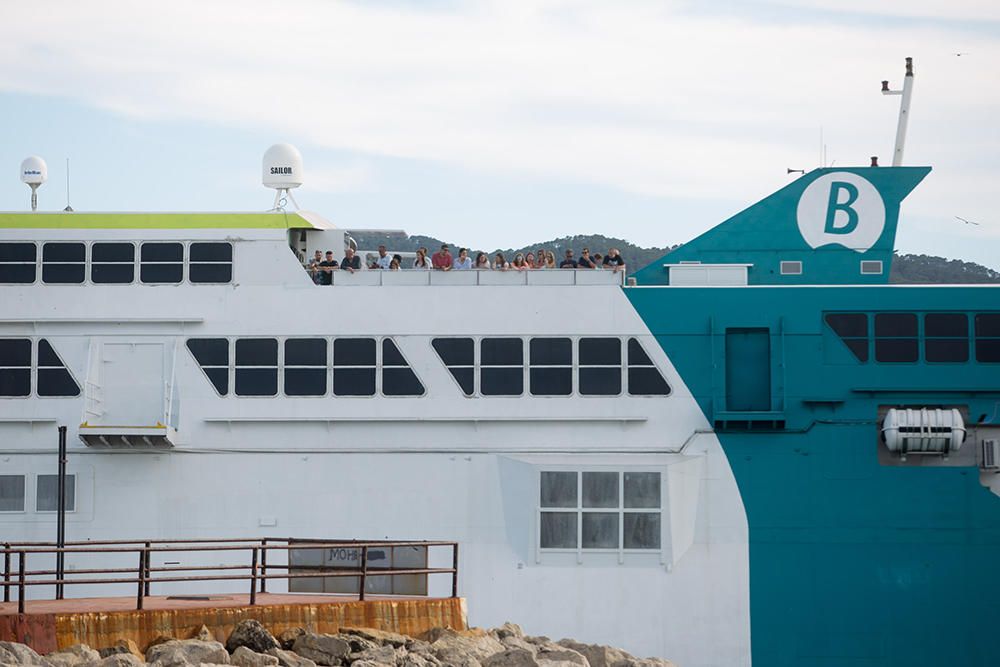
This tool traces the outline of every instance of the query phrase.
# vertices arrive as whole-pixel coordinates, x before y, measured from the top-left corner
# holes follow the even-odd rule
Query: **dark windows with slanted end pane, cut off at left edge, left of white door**
[[[79,396],[66,364],[44,338],[0,338],[0,396]]]

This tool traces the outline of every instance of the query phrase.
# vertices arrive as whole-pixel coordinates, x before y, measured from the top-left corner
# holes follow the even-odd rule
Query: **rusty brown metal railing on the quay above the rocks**
[[[143,608],[143,601],[150,597],[152,584],[193,584],[198,582],[248,582],[249,604],[257,604],[257,594],[267,592],[270,580],[325,579],[327,577],[358,578],[357,599],[364,600],[366,584],[374,577],[401,577],[412,575],[450,575],[451,597],[458,597],[458,542],[441,540],[336,540],[321,538],[250,537],[234,539],[180,539],[180,540],[89,540],[66,542],[58,547],[53,542],[4,542],[3,601],[11,602],[16,593],[17,612],[25,613],[29,588],[51,586],[56,591],[53,598],[63,599],[62,587],[77,585],[132,585],[135,587],[136,609]],[[422,549],[450,549],[450,567],[372,567],[369,553],[375,549],[413,547]],[[287,557],[292,550],[340,550],[357,552],[356,566],[302,566],[292,565]],[[152,563],[154,554],[220,554],[244,553],[242,562],[223,565],[180,565],[179,561],[162,566]],[[276,563],[268,555],[284,552],[284,563]],[[70,570],[28,569],[29,561],[46,560],[56,554],[103,555],[103,557],[129,558],[129,567],[74,567]],[[426,559],[425,559],[426,563]],[[37,567],[37,566],[36,566]],[[181,575],[180,573],[186,573]],[[86,575],[86,576],[81,576]],[[200,583],[199,583],[200,585]],[[304,593],[310,595],[310,593]],[[326,595],[331,595],[327,593]],[[338,593],[337,595],[343,595]],[[174,595],[173,597],[178,597]],[[45,599],[34,598],[33,599]]]

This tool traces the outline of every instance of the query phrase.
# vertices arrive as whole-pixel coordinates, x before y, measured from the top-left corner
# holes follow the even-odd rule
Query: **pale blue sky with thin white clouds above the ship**
[[[303,208],[475,247],[689,240],[788,183],[891,162],[917,74],[897,249],[1000,269],[1000,2],[5,2],[0,209]],[[961,53],[963,55],[955,55]],[[822,139],[821,139],[822,137]],[[0,168],[0,173],[3,169]],[[979,222],[966,225],[961,216]]]

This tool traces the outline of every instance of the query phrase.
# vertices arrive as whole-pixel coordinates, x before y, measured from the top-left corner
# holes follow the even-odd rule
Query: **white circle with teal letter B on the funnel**
[[[882,236],[885,202],[867,178],[838,171],[809,184],[799,197],[796,218],[811,248],[833,244],[866,252]]]

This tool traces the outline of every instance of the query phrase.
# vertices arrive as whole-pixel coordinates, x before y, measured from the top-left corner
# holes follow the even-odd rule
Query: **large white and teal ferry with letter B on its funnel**
[[[0,541],[52,539],[65,425],[71,540],[456,540],[477,625],[993,665],[1000,287],[888,284],[929,171],[815,169],[628,279],[326,286],[311,212],[0,214]]]

